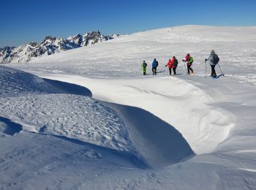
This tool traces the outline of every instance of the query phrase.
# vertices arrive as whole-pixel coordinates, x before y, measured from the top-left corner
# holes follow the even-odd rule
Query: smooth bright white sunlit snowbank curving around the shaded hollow
[[[106,102],[141,107],[170,123],[197,154],[214,151],[233,128],[233,115],[214,104],[211,96],[177,77],[148,79],[90,79],[72,75],[48,76],[87,86]],[[161,84],[161,85],[159,85]]]

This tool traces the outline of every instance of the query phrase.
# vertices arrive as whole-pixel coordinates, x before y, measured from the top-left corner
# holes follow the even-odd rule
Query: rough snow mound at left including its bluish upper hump
[[[125,124],[113,110],[90,97],[56,94],[90,95],[86,88],[53,83],[4,66],[0,66],[0,81],[1,116],[12,118],[23,129],[59,134],[120,151],[131,150]]]

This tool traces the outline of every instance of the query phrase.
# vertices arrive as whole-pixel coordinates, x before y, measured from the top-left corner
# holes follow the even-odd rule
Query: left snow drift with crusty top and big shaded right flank
[[[88,88],[0,68],[1,77],[5,79],[3,88],[21,89],[16,94],[18,97],[1,97],[3,117],[0,121],[4,124],[4,134],[13,135],[23,130],[89,142],[137,156],[138,161],[141,159],[140,167],[163,167],[194,156],[187,141],[173,126],[145,110],[104,103],[107,107],[91,99]],[[29,80],[22,81],[26,78]],[[20,83],[14,83],[16,80]],[[140,121],[142,117],[145,121]]]

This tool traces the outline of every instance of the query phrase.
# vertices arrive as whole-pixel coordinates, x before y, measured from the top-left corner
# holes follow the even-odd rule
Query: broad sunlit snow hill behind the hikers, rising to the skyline
[[[33,60],[36,64],[12,66],[34,74],[62,72],[85,77],[138,77],[143,59],[148,63],[147,73],[151,73],[154,58],[159,61],[159,71],[163,71],[168,59],[176,56],[178,72],[184,74],[181,60],[190,53],[197,75],[204,76],[204,60],[211,49],[215,49],[220,57],[219,65],[230,80],[248,85],[256,84],[255,45],[253,26],[178,26],[124,35],[93,46],[36,58]],[[207,65],[207,75],[210,69]]]

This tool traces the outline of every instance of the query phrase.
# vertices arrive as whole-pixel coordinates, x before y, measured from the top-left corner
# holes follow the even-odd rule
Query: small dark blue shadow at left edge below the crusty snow
[[[12,122],[8,118],[3,118],[0,116],[0,122],[4,123],[2,127],[0,126],[0,131],[5,134],[9,134],[13,136],[15,133],[19,133],[22,130],[22,126],[20,124]]]

